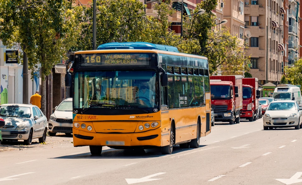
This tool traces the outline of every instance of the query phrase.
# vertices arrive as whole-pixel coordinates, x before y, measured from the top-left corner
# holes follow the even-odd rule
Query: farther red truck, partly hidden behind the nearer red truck
[[[242,79],[243,109],[241,118],[256,121],[259,118],[258,78]]]

